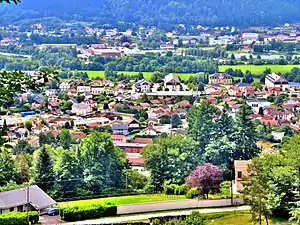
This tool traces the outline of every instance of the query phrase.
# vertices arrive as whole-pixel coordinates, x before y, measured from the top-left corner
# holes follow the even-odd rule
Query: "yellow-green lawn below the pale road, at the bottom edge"
[[[214,213],[204,215],[206,218],[206,225],[254,225],[251,222],[251,214],[250,212],[244,211],[236,211],[236,212],[228,212],[228,213]],[[263,222],[263,225],[266,223]],[[270,225],[288,225],[287,221],[278,220],[278,219],[270,219]]]

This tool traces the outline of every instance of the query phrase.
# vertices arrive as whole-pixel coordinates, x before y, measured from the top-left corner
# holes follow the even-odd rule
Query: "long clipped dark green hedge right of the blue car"
[[[66,222],[97,219],[101,217],[116,216],[117,206],[112,204],[106,205],[87,205],[74,206],[61,209],[61,219]]]

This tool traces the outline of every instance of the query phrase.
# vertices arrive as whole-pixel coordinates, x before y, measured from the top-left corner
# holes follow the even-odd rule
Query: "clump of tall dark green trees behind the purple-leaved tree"
[[[208,102],[189,111],[189,135],[171,135],[154,140],[142,152],[151,172],[151,186],[163,190],[163,184],[185,183],[198,165],[212,163],[228,177],[236,159],[251,159],[259,153],[251,110],[243,104],[233,119]]]

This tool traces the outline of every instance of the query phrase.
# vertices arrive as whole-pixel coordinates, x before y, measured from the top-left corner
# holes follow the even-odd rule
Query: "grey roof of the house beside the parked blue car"
[[[37,185],[29,187],[29,202],[35,209],[44,209],[56,202]],[[27,188],[0,192],[0,209],[27,204]]]

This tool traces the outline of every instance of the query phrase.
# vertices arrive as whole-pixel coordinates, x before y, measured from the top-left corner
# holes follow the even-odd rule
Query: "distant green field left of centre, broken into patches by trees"
[[[86,72],[89,78],[105,78],[104,71],[81,71]],[[118,73],[123,73],[124,75],[128,76],[137,76],[139,72],[131,72],[131,71],[119,71]],[[143,72],[144,78],[146,80],[150,80],[152,77],[153,72]],[[175,73],[178,75],[182,80],[188,80],[191,76],[194,76],[195,73]]]

